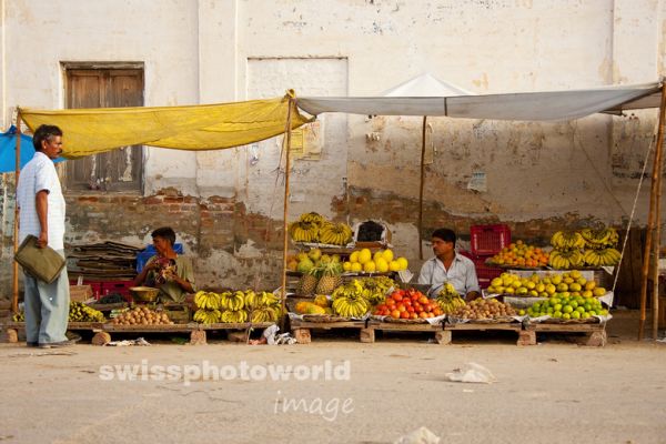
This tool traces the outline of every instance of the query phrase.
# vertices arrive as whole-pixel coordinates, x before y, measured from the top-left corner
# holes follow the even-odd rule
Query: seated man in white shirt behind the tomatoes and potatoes
[[[450,282],[467,301],[480,296],[476,268],[468,258],[455,252],[456,235],[453,230],[437,229],[432,235],[435,256],[426,261],[418,275],[420,284],[432,285],[430,297],[436,297],[442,286]]]

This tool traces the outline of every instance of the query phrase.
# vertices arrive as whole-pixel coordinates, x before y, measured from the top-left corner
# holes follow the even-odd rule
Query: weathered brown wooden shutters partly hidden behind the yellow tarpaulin
[[[67,108],[143,105],[143,69],[65,69]],[[101,135],[100,135],[101,137]],[[141,191],[142,147],[67,162],[68,191]]]

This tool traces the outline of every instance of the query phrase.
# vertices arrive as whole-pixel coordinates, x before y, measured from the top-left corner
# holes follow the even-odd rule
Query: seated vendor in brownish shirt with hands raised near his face
[[[183,302],[188,293],[194,293],[192,261],[173,250],[175,232],[170,226],[157,229],[151,236],[158,254],[148,260],[134,285],[160,289],[162,302]]]

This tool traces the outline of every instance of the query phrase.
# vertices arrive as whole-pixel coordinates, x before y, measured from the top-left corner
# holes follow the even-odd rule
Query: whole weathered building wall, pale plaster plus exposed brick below
[[[63,105],[60,63],[140,61],[145,104],[281,95],[375,95],[424,71],[476,93],[654,81],[666,73],[665,0],[13,0],[2,3],[2,112]],[[6,88],[4,88],[6,85]],[[655,111],[535,123],[431,119],[425,231],[503,221],[545,238],[620,223]],[[417,255],[421,119],[322,119],[321,160],[296,160],[290,218],[309,210],[390,222]],[[379,140],[370,140],[374,133]],[[258,154],[255,157],[254,154]],[[276,282],[280,140],[219,152],[145,149],[142,195],[71,195],[69,241],[145,242],[173,224],[205,284]],[[487,191],[467,185],[485,173]],[[344,179],[346,178],[346,179]],[[4,182],[3,182],[4,183]],[[8,183],[11,193],[11,181]],[[2,206],[2,263],[12,202]],[[645,221],[646,192],[637,221]],[[0,287],[7,282],[0,270]]]

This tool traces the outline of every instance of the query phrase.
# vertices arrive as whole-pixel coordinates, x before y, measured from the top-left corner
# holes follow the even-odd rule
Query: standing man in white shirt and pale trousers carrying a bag
[[[26,164],[17,185],[20,209],[19,238],[38,238],[64,258],[64,198],[53,160],[62,152],[62,131],[41,125],[32,138],[34,157]],[[67,266],[50,284],[24,273],[26,339],[28,346],[51,349],[72,345],[65,336],[69,317],[69,279]]]

